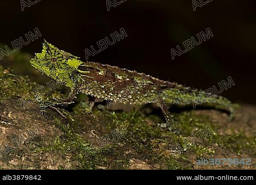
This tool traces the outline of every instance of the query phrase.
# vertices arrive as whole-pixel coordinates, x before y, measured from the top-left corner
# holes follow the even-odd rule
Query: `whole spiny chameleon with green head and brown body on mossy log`
[[[49,107],[55,108],[73,103],[79,93],[88,95],[90,110],[94,107],[95,98],[132,105],[155,103],[161,108],[165,118],[163,127],[175,131],[173,116],[168,108],[172,105],[191,105],[193,98],[197,96],[207,99],[207,95],[202,90],[163,81],[135,70],[121,69],[97,62],[82,62],[80,57],[62,51],[46,40],[43,42],[41,53],[35,53],[30,63],[36,70],[70,88],[66,98],[46,100],[36,97],[40,103],[41,112]],[[131,84],[143,86],[134,85],[135,90],[128,91],[127,87],[131,87]],[[204,105],[226,110],[231,119],[234,117],[235,106],[225,97],[214,96],[205,101]]]

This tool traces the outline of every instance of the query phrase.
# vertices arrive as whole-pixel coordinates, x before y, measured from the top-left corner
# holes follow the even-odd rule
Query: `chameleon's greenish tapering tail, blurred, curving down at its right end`
[[[193,105],[194,108],[209,107],[217,110],[224,110],[229,112],[230,121],[234,119],[234,111],[239,106],[233,104],[227,98],[217,96],[214,92],[206,94],[202,90],[191,89],[189,87],[183,87],[182,85],[177,85],[177,87],[162,91],[163,102],[166,105]]]

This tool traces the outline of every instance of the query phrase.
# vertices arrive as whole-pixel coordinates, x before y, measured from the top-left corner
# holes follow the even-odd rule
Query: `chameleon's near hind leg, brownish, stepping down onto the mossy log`
[[[159,126],[162,128],[168,128],[169,131],[178,134],[178,130],[175,126],[174,120],[172,119],[172,115],[169,113],[169,110],[166,104],[162,100],[158,100],[156,105],[161,108],[166,121],[166,123],[159,124]]]

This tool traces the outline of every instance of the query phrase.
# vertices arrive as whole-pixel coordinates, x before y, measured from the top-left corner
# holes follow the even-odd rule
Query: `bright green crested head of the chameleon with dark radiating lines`
[[[35,53],[30,63],[35,69],[68,87],[73,85],[71,78],[73,72],[82,64],[79,57],[56,48],[46,40],[42,52]]]

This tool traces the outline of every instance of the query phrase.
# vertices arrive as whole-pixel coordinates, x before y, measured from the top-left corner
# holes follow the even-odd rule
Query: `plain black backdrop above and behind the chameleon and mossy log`
[[[23,46],[22,51],[40,52],[45,38],[83,61],[85,48],[96,46],[97,41],[110,38],[123,27],[127,38],[88,60],[198,89],[208,89],[231,76],[236,85],[222,96],[256,103],[253,0],[212,0],[196,11],[192,0],[127,0],[110,11],[106,0],[40,0],[24,11],[20,0],[0,0],[0,43],[11,45],[36,27],[42,37]],[[208,27],[213,38],[172,60],[172,48],[183,47],[183,41]]]

